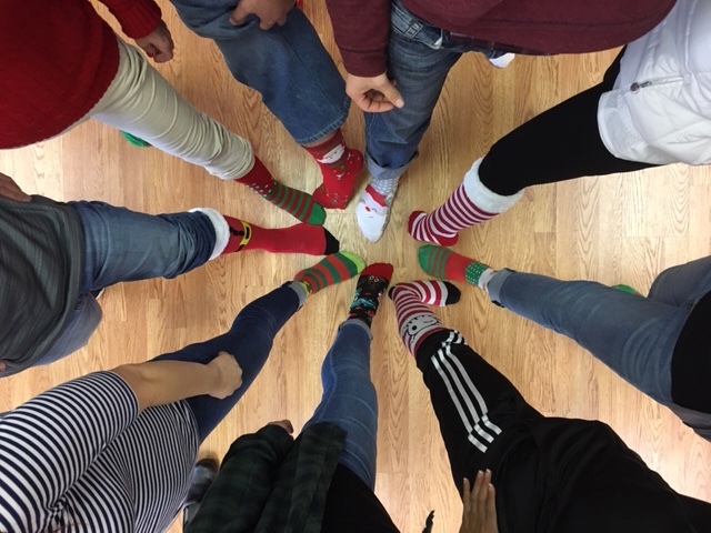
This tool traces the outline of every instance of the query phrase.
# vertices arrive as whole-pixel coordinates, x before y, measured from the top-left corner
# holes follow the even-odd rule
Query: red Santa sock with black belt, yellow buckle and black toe
[[[230,227],[230,237],[221,255],[241,250],[324,255],[339,250],[338,239],[322,225],[301,223],[270,230],[226,214],[222,217]]]

